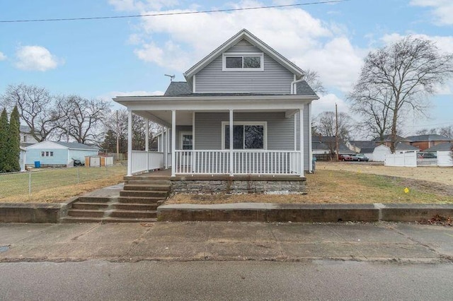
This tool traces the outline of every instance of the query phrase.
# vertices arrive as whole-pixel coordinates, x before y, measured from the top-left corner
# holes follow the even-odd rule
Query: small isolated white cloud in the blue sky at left
[[[16,67],[23,70],[47,71],[62,64],[61,60],[42,46],[19,47],[16,51],[16,58]]]

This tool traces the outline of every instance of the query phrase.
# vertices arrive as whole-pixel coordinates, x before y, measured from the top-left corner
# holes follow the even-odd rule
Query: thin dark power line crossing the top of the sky
[[[0,23],[25,23],[25,22],[52,22],[52,21],[74,21],[74,20],[104,20],[104,19],[120,19],[120,18],[141,18],[141,17],[157,17],[157,16],[178,16],[190,15],[195,13],[223,13],[229,11],[252,11],[264,8],[285,8],[294,6],[308,6],[316,4],[332,4],[351,0],[330,0],[330,1],[316,1],[299,4],[285,4],[285,5],[270,5],[270,6],[256,6],[246,8],[226,8],[226,9],[212,9],[207,11],[180,11],[175,13],[146,13],[143,15],[125,15],[125,16],[103,16],[103,17],[81,17],[81,18],[52,18],[52,19],[28,19],[28,20],[0,20]]]

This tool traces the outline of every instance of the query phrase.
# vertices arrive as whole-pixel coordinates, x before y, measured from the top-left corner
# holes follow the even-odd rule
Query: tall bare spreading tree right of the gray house
[[[364,107],[369,91],[391,114],[391,152],[394,153],[398,122],[409,112],[424,114],[428,96],[453,75],[453,54],[441,54],[434,42],[412,36],[375,52],[369,52],[352,89],[352,107]],[[374,100],[376,101],[376,100]]]

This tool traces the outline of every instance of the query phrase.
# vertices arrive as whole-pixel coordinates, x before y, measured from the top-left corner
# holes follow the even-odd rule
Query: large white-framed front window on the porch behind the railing
[[[223,148],[229,149],[229,122],[222,122]],[[265,149],[266,148],[265,122],[234,122],[233,148],[234,149]]]

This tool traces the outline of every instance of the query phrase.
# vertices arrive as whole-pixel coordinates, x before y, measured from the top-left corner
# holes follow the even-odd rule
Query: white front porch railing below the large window
[[[229,150],[175,151],[177,174],[230,173]],[[233,151],[234,175],[300,175],[299,151]]]

